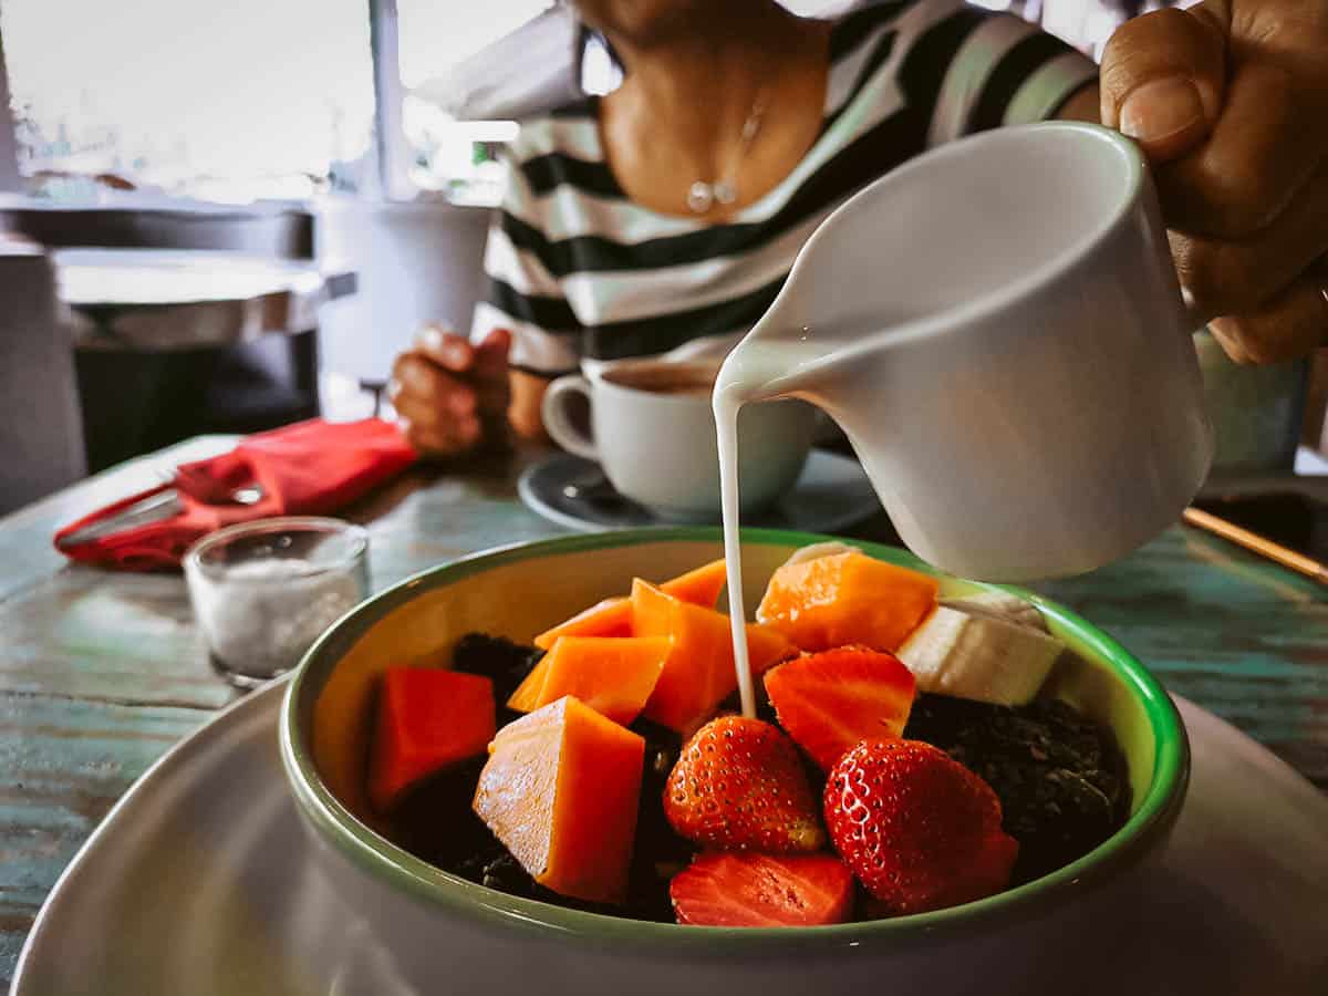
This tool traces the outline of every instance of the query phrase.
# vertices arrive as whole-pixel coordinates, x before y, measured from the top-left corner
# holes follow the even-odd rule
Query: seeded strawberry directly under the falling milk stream
[[[679,835],[717,850],[814,851],[825,843],[815,797],[778,728],[721,716],[696,732],[664,786]]]

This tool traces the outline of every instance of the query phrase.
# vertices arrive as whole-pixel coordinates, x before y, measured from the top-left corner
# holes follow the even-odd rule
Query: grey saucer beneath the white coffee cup
[[[568,497],[563,490],[592,478],[602,479],[598,463],[558,453],[527,467],[517,481],[517,494],[535,514],[578,533],[679,525],[618,494],[607,481],[598,497],[590,499]],[[841,533],[879,510],[876,493],[858,461],[829,450],[811,450],[788,494],[765,511],[744,515],[742,525],[795,533]]]

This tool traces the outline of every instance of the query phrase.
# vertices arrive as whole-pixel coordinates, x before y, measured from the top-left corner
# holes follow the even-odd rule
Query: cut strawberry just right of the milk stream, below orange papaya
[[[912,672],[892,653],[839,647],[765,676],[780,725],[829,770],[859,740],[898,737],[912,709]]]

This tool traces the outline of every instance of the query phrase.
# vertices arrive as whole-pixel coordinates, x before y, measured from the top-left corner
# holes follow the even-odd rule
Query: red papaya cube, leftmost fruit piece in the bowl
[[[441,668],[388,668],[369,754],[369,801],[380,813],[430,774],[482,754],[494,736],[494,685]]]

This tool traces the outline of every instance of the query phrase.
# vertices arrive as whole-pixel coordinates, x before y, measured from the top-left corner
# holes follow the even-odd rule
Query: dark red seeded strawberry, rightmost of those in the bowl
[[[1019,854],[991,786],[918,740],[865,741],[841,757],[825,813],[835,850],[894,914],[999,892]]]

